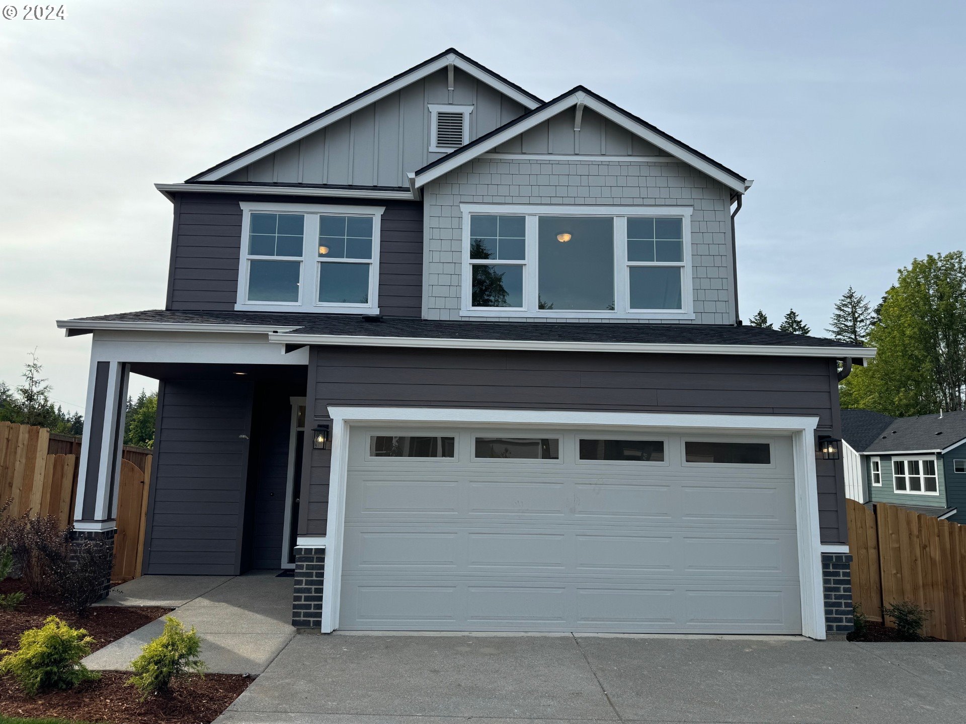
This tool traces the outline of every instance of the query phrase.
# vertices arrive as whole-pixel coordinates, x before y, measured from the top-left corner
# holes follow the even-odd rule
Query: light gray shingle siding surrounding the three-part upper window
[[[683,163],[470,161],[424,189],[425,317],[460,319],[462,203],[688,206],[695,209],[691,228],[694,322],[732,323],[729,198],[724,184]]]

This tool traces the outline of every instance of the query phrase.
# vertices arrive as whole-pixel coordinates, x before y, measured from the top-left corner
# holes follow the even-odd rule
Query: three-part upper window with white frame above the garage
[[[691,208],[462,209],[462,314],[694,319]]]

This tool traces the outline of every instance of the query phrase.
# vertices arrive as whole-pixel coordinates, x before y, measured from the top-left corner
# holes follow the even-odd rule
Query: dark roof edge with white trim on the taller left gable
[[[449,64],[453,64],[455,68],[464,70],[476,79],[493,86],[497,91],[513,98],[525,108],[535,108],[543,103],[543,100],[539,97],[534,96],[516,83],[507,80],[502,75],[480,65],[456,48],[451,47],[443,50],[439,55],[435,55],[417,66],[413,66],[410,70],[404,70],[398,75],[394,75],[388,80],[384,80],[382,83],[373,86],[369,90],[363,91],[348,100],[343,100],[341,103],[333,105],[319,115],[313,116],[298,125],[294,125],[276,136],[272,136],[270,139],[251,147],[247,151],[233,155],[231,158],[212,166],[212,168],[192,176],[186,182],[218,181],[233,171],[237,171],[243,166],[254,163],[259,158],[263,158],[270,153],[275,153],[279,149],[295,143],[300,138],[304,138],[308,134],[314,133],[327,125],[334,124],[339,119],[355,113],[360,108],[375,103],[380,98],[389,96],[401,88],[405,88],[415,81],[431,75],[437,70],[446,68]]]

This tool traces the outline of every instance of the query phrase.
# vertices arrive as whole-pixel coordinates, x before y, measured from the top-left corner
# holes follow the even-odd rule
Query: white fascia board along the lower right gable
[[[583,103],[585,107],[593,109],[616,125],[626,128],[640,138],[643,138],[651,145],[656,146],[666,153],[670,153],[677,159],[687,163],[689,166],[693,166],[701,173],[710,176],[715,181],[721,181],[725,184],[725,186],[737,191],[738,193],[745,193],[752,185],[749,181],[742,180],[736,176],[726,173],[714,164],[709,163],[703,158],[697,156],[695,153],[692,153],[679,144],[668,140],[661,134],[655,133],[647,126],[639,124],[637,121],[626,117],[623,113],[614,111],[611,106],[601,103],[596,98],[587,96],[583,93],[575,93],[571,94],[570,96],[560,98],[553,105],[549,105],[538,113],[534,113],[530,118],[526,119],[526,121],[506,128],[503,132],[495,134],[485,143],[481,143],[478,146],[473,147],[466,153],[461,153],[459,150],[454,151],[451,153],[451,157],[446,158],[446,160],[440,163],[438,166],[434,166],[426,173],[418,175],[416,177],[416,185],[423,186],[430,181],[439,179],[440,176],[444,176],[453,169],[459,168],[463,164],[468,163],[470,160],[483,153],[493,151],[498,146],[506,143],[512,138],[516,138],[529,128],[542,124],[544,121],[553,118],[561,111],[564,111],[570,106],[576,105],[577,103]]]

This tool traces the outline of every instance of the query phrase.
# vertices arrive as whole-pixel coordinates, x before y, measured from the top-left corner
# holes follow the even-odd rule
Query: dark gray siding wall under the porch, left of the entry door
[[[241,571],[252,391],[248,382],[165,380],[145,571]]]

